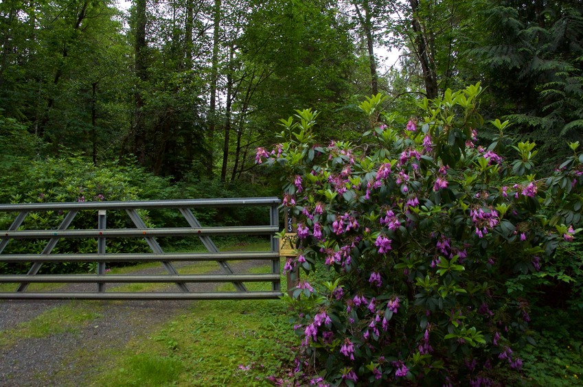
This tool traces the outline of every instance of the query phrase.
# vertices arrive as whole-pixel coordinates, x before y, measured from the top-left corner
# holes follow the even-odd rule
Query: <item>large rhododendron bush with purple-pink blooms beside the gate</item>
[[[513,348],[531,340],[521,289],[580,231],[583,157],[570,144],[552,176],[535,176],[534,143],[512,144],[507,122],[484,124],[480,91],[424,100],[407,124],[379,111],[382,96],[368,98],[359,143],[318,143],[317,113],[298,111],[273,152],[258,149],[258,163],[283,169],[284,209],[297,220],[285,270],[308,273],[288,300],[297,375],[487,386],[521,369]],[[499,131],[485,147],[483,125]]]

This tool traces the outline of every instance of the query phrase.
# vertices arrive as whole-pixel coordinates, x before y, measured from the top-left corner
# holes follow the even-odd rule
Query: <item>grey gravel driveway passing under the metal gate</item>
[[[247,272],[265,261],[231,264]],[[209,274],[220,274],[220,270]],[[150,274],[144,272],[143,274]],[[192,291],[211,291],[216,284],[190,283]],[[74,285],[73,285],[74,286]],[[174,291],[174,287],[169,287]],[[43,338],[24,338],[0,347],[0,386],[88,386],[98,366],[135,340],[144,340],[161,325],[187,312],[196,301],[0,301],[0,330],[11,329],[66,303],[87,305],[98,318],[73,331]]]

